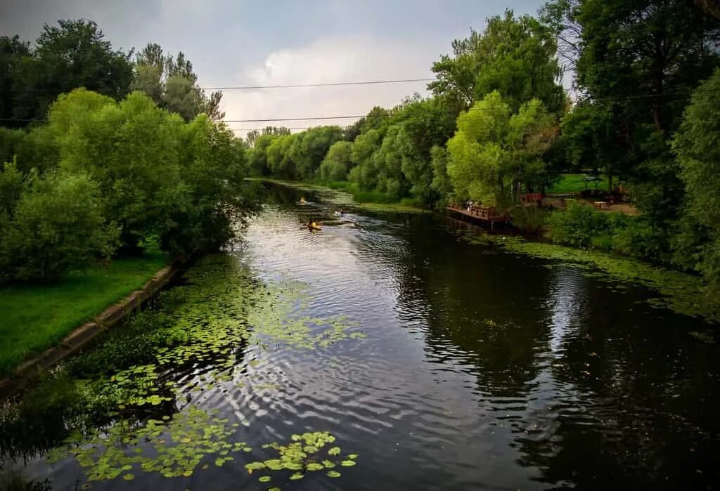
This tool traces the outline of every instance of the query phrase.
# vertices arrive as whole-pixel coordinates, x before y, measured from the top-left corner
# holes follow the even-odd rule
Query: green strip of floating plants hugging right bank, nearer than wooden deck
[[[500,247],[507,252],[552,260],[546,267],[571,264],[587,277],[612,283],[642,285],[659,296],[645,300],[650,306],[667,308],[685,316],[702,317],[716,323],[720,319],[720,303],[708,298],[701,278],[688,273],[655,267],[638,260],[616,257],[603,252],[575,249],[544,242],[529,242],[521,237],[464,232],[470,244]],[[614,285],[623,288],[624,285]]]

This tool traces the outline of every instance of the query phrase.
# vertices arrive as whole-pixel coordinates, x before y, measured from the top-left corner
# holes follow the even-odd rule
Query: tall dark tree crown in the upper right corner
[[[684,0],[585,0],[577,81],[594,99],[615,99],[626,139],[654,125],[667,135],[690,91],[718,65],[720,21]]]

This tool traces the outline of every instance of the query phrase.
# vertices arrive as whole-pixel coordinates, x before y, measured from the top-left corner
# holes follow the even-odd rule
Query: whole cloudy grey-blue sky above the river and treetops
[[[454,39],[513,9],[536,14],[543,0],[0,0],[0,35],[35,40],[45,23],[92,19],[116,48],[157,42],[183,51],[203,87],[432,78]],[[223,91],[225,119],[366,114],[392,107],[426,83]],[[267,124],[238,122],[242,136]]]

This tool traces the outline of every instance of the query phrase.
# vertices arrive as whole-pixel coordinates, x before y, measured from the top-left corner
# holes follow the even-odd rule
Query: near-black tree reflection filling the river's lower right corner
[[[521,464],[559,487],[706,487],[718,434],[716,349],[692,341],[684,319],[634,312],[631,291],[588,283],[578,295],[568,288],[574,276],[557,270],[549,288],[551,351],[541,404],[528,414],[537,428],[516,439]]]

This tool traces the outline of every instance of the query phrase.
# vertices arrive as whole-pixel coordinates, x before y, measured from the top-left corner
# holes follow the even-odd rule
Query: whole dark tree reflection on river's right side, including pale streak
[[[527,403],[510,410],[510,446],[540,482],[716,482],[720,357],[686,334],[688,319],[639,306],[640,289],[613,293],[574,268],[539,269],[438,239],[431,224],[410,226],[408,244],[398,268],[401,320],[423,312],[429,357],[476,375],[489,406]]]

